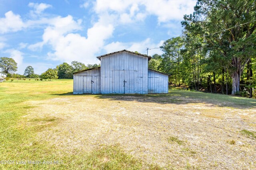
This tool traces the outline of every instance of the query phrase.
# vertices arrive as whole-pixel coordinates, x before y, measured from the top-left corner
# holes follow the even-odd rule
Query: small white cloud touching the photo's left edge
[[[16,15],[12,11],[8,11],[4,16],[4,18],[0,18],[0,33],[19,31],[25,27],[20,15]]]

